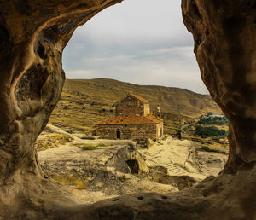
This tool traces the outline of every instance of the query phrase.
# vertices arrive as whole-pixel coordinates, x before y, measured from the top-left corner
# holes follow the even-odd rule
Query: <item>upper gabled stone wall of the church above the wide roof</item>
[[[133,96],[127,96],[115,106],[116,116],[143,116],[144,104]]]

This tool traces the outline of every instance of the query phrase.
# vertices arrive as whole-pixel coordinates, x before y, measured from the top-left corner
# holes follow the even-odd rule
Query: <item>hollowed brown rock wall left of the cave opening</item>
[[[42,176],[34,142],[61,97],[62,51],[77,26],[118,2],[0,1],[0,184],[20,171]]]

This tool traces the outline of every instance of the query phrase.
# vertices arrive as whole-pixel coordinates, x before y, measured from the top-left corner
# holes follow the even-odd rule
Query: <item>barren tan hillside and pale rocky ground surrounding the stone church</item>
[[[149,139],[147,144],[137,144],[92,135],[94,124],[115,114],[114,103],[125,94],[122,88],[148,96],[153,109],[162,100],[163,109],[169,111],[162,116],[165,136],[157,142]],[[174,96],[178,98],[170,99]],[[207,110],[210,118],[200,119],[200,113],[205,115]],[[141,192],[171,193],[218,176],[224,168],[228,154],[225,139],[216,142],[214,137],[195,134],[199,120],[214,123],[218,119],[211,118],[212,112],[221,113],[209,96],[189,90],[110,79],[67,80],[61,101],[35,147],[47,177],[66,185],[82,204]],[[222,118],[217,122],[224,123]],[[227,130],[226,124],[215,126]],[[174,133],[169,133],[170,127]],[[177,130],[181,130],[182,140],[177,138]]]

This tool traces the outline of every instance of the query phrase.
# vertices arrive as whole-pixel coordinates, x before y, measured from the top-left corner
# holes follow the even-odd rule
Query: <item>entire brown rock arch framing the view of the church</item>
[[[201,78],[230,120],[230,156],[218,177],[178,194],[130,195],[89,207],[75,206],[44,177],[33,144],[61,96],[62,50],[77,26],[119,2],[0,0],[0,216],[255,218],[255,0],[182,1]]]

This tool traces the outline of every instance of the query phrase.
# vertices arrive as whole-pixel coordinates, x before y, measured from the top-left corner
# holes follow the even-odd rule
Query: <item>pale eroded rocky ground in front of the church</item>
[[[148,142],[69,134],[49,124],[36,144],[47,177],[67,185],[81,204],[140,192],[170,193],[218,175],[227,155],[198,151],[195,143],[166,136]]]

